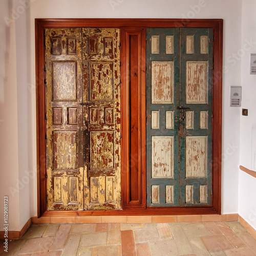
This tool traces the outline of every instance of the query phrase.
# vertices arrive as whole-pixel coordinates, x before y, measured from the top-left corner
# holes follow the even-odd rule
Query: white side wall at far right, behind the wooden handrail
[[[242,58],[242,108],[248,109],[248,116],[241,118],[240,164],[256,170],[256,76],[249,74],[250,53],[256,53],[256,2],[243,0],[242,6],[242,46],[251,41],[251,47],[244,49]],[[239,174],[239,215],[256,229],[256,179],[240,171]]]

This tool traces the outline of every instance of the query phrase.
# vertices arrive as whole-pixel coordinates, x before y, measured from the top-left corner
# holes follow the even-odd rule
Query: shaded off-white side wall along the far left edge
[[[19,230],[18,113],[15,23],[7,26],[12,2],[1,4],[0,19],[0,225],[4,227],[4,196],[8,196],[9,230]],[[28,153],[27,153],[28,154]],[[12,189],[10,191],[10,188]]]

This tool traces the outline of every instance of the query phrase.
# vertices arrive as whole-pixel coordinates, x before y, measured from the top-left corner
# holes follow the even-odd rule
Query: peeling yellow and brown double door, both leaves
[[[119,30],[46,30],[47,209],[120,208]]]

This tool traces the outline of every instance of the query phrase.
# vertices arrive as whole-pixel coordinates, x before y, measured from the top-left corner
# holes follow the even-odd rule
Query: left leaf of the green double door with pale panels
[[[179,29],[146,31],[147,206],[179,205]]]

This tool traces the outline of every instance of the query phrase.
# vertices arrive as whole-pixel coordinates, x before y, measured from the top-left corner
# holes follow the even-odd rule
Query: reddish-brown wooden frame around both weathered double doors
[[[122,210],[84,210],[84,211],[47,211],[46,205],[46,118],[45,118],[45,49],[44,31],[46,28],[82,28],[101,27],[119,28],[121,31],[121,195]],[[146,208],[146,159],[145,159],[145,36],[146,28],[212,28],[214,33],[214,70],[212,74],[212,205],[190,207],[149,207]],[[133,52],[127,49],[130,34],[138,34],[138,60],[140,88],[138,102],[141,118],[139,118],[140,157],[138,159],[138,202],[130,200],[129,175],[129,58]],[[142,38],[142,39],[141,39]],[[125,49],[126,48],[126,49]],[[35,19],[35,59],[36,59],[36,133],[37,133],[37,212],[40,216],[103,216],[103,215],[201,215],[221,214],[221,147],[222,147],[222,58],[223,58],[223,19],[106,19],[106,18],[74,18],[74,19]],[[132,79],[133,80],[133,79]],[[136,80],[138,83],[138,80]],[[144,113],[144,114],[143,114]],[[136,192],[136,193],[137,193]],[[130,200],[130,201],[129,201]]]

